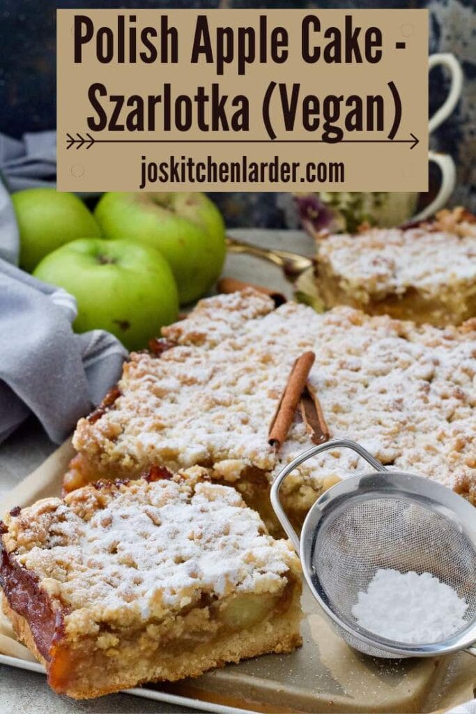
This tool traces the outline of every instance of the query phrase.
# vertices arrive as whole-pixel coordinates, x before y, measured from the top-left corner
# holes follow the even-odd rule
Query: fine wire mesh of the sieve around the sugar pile
[[[367,493],[336,508],[320,528],[312,567],[313,580],[318,580],[328,607],[360,632],[365,630],[351,610],[359,591],[367,589],[379,568],[432,573],[468,603],[461,631],[476,620],[476,552],[472,543],[446,516],[401,496],[383,498]],[[395,656],[339,629],[350,645],[367,654]],[[375,633],[372,638],[376,645],[388,643]]]

